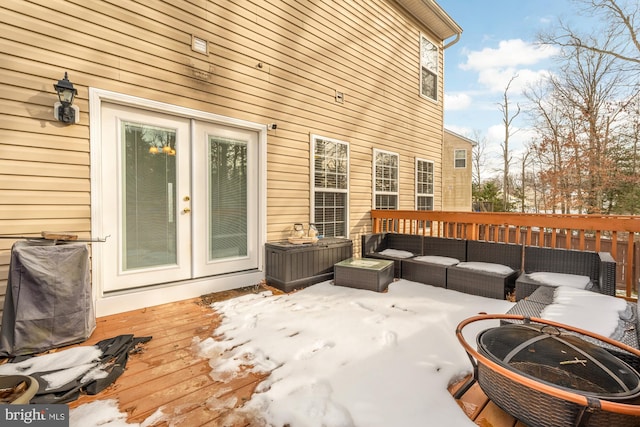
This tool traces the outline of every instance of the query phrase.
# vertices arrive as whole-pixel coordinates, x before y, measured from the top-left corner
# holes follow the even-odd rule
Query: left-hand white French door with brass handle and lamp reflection
[[[103,104],[105,292],[192,277],[191,121]]]

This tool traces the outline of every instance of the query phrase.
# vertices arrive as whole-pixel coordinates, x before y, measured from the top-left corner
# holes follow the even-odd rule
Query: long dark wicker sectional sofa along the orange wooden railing
[[[404,256],[385,255],[390,249]],[[549,285],[536,273],[586,276],[590,289],[606,295],[615,295],[616,288],[616,263],[607,252],[376,233],[362,236],[362,257],[393,260],[396,278],[496,299],[515,292],[519,301]]]

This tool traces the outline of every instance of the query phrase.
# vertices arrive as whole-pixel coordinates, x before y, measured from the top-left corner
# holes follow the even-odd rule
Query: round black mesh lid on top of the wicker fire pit
[[[585,396],[627,400],[640,375],[604,348],[552,326],[504,325],[477,337],[478,351],[512,371]]]

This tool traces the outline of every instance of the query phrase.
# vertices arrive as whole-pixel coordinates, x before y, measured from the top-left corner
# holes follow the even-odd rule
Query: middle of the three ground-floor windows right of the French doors
[[[398,209],[399,156],[389,151],[373,150],[373,206],[375,209]]]

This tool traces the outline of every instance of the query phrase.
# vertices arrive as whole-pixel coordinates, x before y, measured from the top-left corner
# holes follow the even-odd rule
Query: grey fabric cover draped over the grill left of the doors
[[[0,357],[85,341],[96,319],[85,244],[16,242],[0,329]]]

